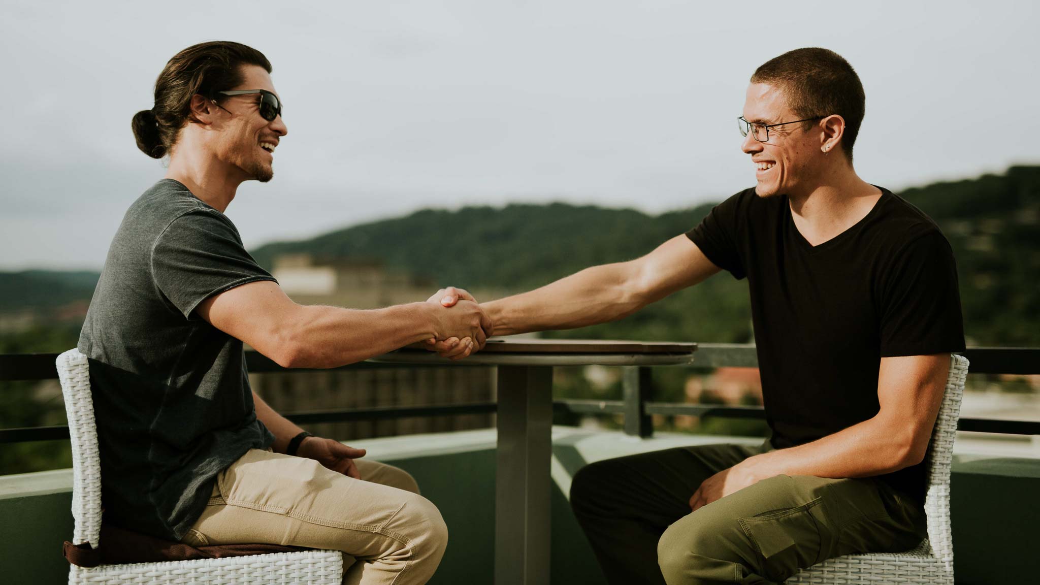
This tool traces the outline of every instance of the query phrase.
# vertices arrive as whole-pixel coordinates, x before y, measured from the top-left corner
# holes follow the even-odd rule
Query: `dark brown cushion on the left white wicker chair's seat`
[[[268,553],[294,553],[307,551],[304,546],[283,546],[281,544],[213,544],[191,546],[183,542],[173,542],[131,532],[114,526],[101,526],[101,542],[97,549],[90,544],[73,544],[66,540],[62,552],[74,565],[92,567],[101,564],[154,563],[161,561],[186,561],[191,559],[219,559],[224,557],[245,557]]]

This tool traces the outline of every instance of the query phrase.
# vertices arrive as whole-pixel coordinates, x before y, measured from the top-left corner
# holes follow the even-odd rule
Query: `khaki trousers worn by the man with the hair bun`
[[[447,545],[440,512],[408,473],[355,461],[356,480],[317,461],[250,450],[217,476],[193,545],[270,543],[342,551],[344,584],[425,583]]]

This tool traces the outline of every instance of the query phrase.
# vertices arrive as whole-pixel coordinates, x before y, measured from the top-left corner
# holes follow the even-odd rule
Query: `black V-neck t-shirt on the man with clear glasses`
[[[717,266],[748,279],[777,449],[877,414],[882,357],[964,350],[950,244],[928,215],[881,190],[865,218],[815,247],[795,227],[786,196],[753,188],[686,234]],[[926,478],[924,463],[879,477],[921,502]]]

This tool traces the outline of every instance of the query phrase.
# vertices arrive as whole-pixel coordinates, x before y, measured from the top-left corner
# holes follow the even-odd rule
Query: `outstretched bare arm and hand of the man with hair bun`
[[[284,367],[336,367],[434,338],[483,338],[491,323],[473,302],[344,309],[292,302],[275,282],[251,282],[199,305],[200,316]]]

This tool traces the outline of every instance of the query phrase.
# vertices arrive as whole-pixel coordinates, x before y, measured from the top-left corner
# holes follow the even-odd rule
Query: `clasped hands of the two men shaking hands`
[[[421,342],[441,357],[462,359],[480,351],[494,331],[494,324],[472,295],[448,286],[441,288],[426,303],[435,317],[435,336]]]

